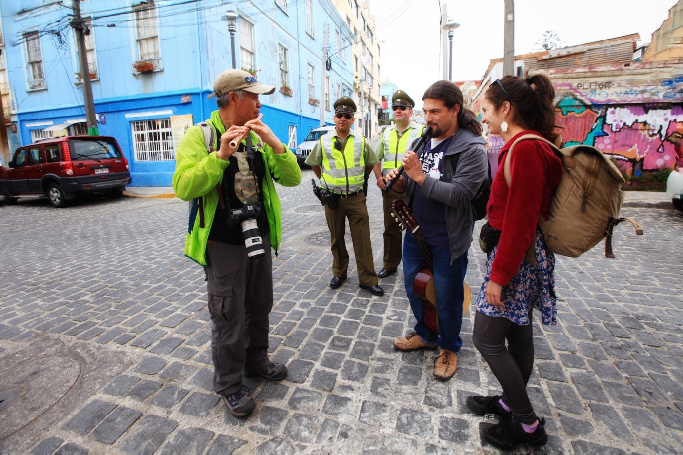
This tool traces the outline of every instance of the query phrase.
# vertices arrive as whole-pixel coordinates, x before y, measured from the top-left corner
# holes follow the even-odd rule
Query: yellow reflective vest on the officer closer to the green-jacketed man
[[[350,130],[344,151],[334,146],[336,130],[320,138],[322,178],[320,186],[336,194],[356,193],[365,183],[365,137]]]

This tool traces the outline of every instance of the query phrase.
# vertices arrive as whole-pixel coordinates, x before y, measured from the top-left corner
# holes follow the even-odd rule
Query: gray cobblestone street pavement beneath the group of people
[[[0,453],[499,453],[481,437],[494,421],[465,406],[471,394],[499,392],[472,346],[473,312],[451,381],[432,376],[434,351],[397,352],[393,338],[414,323],[402,273],[380,282],[382,297],[359,289],[354,270],[329,288],[329,234],[312,176],[278,188],[284,241],[270,353],[290,373],[281,383],[245,380],[257,401],[247,419],[212,391],[204,272],[183,255],[186,202],[0,208]],[[622,213],[645,236],[620,225],[615,260],[601,247],[558,257],[559,325],[534,324],[529,385],[548,445],[517,453],[683,452],[683,216]],[[469,258],[476,294],[484,253],[473,248]]]

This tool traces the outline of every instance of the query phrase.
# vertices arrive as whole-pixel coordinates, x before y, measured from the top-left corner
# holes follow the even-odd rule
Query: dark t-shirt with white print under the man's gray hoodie
[[[432,141],[427,142],[421,161],[422,171],[428,175],[428,178],[436,178],[443,182],[443,154],[448,150],[451,139],[453,136],[445,139],[433,149],[431,148]],[[443,202],[421,196],[420,190],[421,187],[416,185],[412,205],[413,215],[423,236],[432,247],[450,248]],[[408,235],[413,235],[413,233],[408,231]]]

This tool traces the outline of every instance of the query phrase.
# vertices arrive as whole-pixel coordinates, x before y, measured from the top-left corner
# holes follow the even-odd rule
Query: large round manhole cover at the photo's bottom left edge
[[[0,440],[51,409],[71,390],[85,367],[79,355],[23,361],[0,372]]]

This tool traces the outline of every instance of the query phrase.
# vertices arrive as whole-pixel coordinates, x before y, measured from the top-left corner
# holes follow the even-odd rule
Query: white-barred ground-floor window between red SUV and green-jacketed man
[[[176,158],[171,119],[130,122],[130,130],[135,161],[170,161]]]

